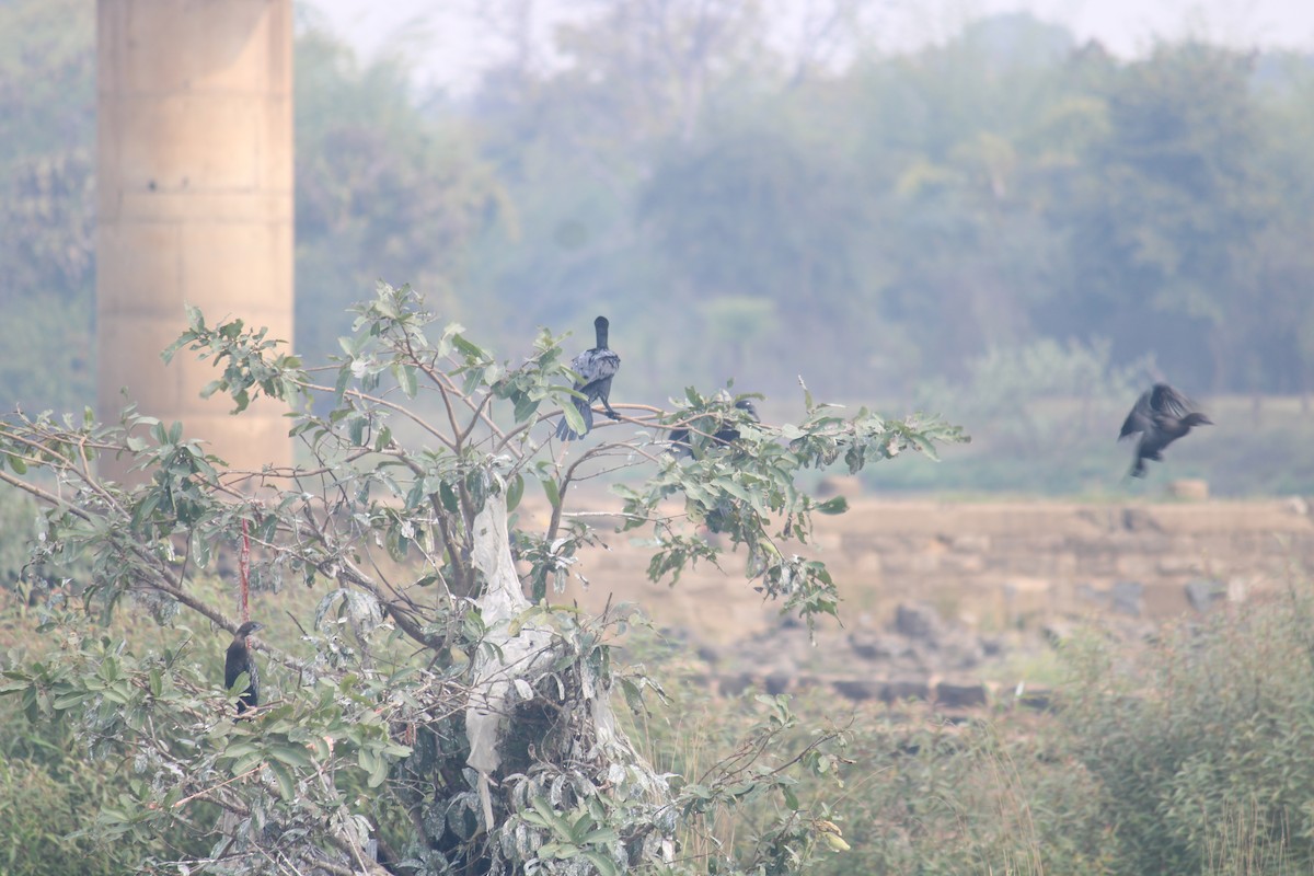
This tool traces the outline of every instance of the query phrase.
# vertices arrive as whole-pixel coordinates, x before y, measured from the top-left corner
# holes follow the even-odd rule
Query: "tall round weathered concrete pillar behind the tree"
[[[229,416],[198,395],[210,361],[159,353],[185,303],[292,340],[292,0],[99,0],[97,20],[97,414],[126,387],[234,468],[286,465],[284,408]]]

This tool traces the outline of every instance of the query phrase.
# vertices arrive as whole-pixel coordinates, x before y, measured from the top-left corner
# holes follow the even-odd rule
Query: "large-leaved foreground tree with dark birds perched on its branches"
[[[690,387],[675,411],[618,405],[623,422],[558,447],[560,418],[583,431],[560,338],[541,331],[501,360],[384,282],[353,313],[344,355],[317,368],[263,328],[212,326],[196,309],[166,352],[210,361],[204,391],[235,415],[261,395],[288,406],[297,468],[231,470],[180,423],[131,408],[118,426],[0,423],[0,482],[26,495],[14,516],[37,533],[0,695],[67,734],[59,759],[20,746],[30,772],[13,775],[25,787],[54,763],[92,783],[85,797],[55,783],[83,822],[39,834],[39,848],[78,854],[91,837],[112,846],[106,867],[289,876],[380,872],[374,846],[419,876],[783,876],[841,843],[825,804],[792,788],[833,775],[842,733],[800,738],[784,697],[765,697],[735,751],[657,771],[614,714],[662,708],[608,641],[633,608],[593,617],[551,600],[591,574],[579,548],[610,532],[641,540],[654,582],[742,549],[745,578],[782,612],[834,616],[812,528],[846,504],[813,498],[800,474],[933,456],[961,429],[841,415],[807,390],[796,422],[758,424],[729,394]],[[733,447],[714,437],[727,422]],[[673,428],[687,429],[690,458],[668,452]],[[106,457],[127,461],[129,483],[97,471]],[[637,477],[622,483],[622,470]],[[615,519],[574,512],[589,481],[620,495]],[[516,516],[527,490],[547,499],[545,523]],[[215,577],[231,579],[221,567],[243,554],[234,594]],[[314,603],[267,598],[284,587]],[[277,613],[259,637],[261,703],[234,720],[246,686],[223,690],[215,637],[198,642],[191,625],[234,630],[248,605],[261,620],[285,608],[296,630]],[[162,629],[143,634],[148,619]],[[72,743],[95,775],[70,764]],[[775,814],[727,842],[749,805]],[[37,827],[13,825],[25,838]]]

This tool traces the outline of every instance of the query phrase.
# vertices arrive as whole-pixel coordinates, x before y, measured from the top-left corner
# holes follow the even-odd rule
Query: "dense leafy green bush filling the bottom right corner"
[[[1060,718],[1126,873],[1314,867],[1314,599],[1183,623],[1143,655],[1089,637]]]

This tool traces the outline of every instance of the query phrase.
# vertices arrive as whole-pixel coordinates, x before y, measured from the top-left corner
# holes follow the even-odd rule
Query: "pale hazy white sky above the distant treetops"
[[[499,46],[472,14],[482,0],[298,0],[365,55],[401,47],[422,79],[469,87]],[[569,0],[536,0],[537,25],[548,33]],[[1314,50],[1314,0],[876,0],[879,43],[911,49],[950,37],[982,14],[1029,11],[1066,25],[1079,39],[1097,38],[1112,51],[1134,55],[1156,38],[1187,34],[1236,47]],[[775,9],[802,9],[807,0],[775,0]]]

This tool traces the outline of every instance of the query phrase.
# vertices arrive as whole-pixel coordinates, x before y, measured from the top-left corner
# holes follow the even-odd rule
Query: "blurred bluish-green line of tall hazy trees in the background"
[[[841,17],[803,28],[791,54],[757,4],[683,0],[574,0],[578,14],[533,46],[515,39],[531,5],[489,8],[511,49],[460,95],[417,85],[413,47],[361,60],[300,9],[307,361],[336,352],[347,306],[384,278],[493,345],[540,324],[583,336],[606,311],[625,401],[729,378],[781,394],[800,373],[829,398],[890,407],[970,395],[972,469],[900,466],[891,489],[1085,489],[989,437],[1034,422],[1014,416],[1020,399],[1053,395],[1045,369],[1035,385],[1008,376],[1003,391],[1000,351],[1070,351],[1072,366],[1097,355],[1102,370],[1074,376],[1068,402],[1104,448],[1077,468],[1105,481],[1122,468],[1108,448],[1109,416],[1121,420],[1092,419],[1091,406],[1130,407],[1141,385],[1122,374],[1144,362],[1197,397],[1250,397],[1256,410],[1298,398],[1303,420],[1310,55],[1176,42],[1127,60],[1028,14],[903,54],[863,50]],[[833,4],[837,16],[861,5]],[[72,408],[93,394],[92,17],[79,0],[0,4],[7,406]],[[848,50],[827,54],[836,30]],[[1247,412],[1243,445],[1286,447],[1252,426]],[[1066,458],[1080,449],[1046,429],[1026,440]],[[1314,490],[1246,447],[1260,469],[1223,465],[1236,447],[1206,456],[1229,469],[1218,491]],[[976,477],[995,464],[1022,471]]]

